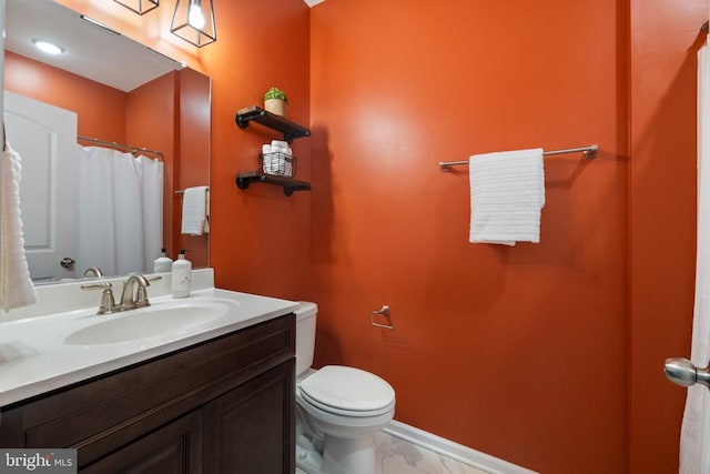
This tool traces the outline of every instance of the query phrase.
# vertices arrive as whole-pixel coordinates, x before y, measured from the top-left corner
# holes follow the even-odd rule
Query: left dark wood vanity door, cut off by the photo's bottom
[[[81,451],[79,452],[81,464]],[[82,474],[202,473],[202,411],[189,413],[80,470]]]

